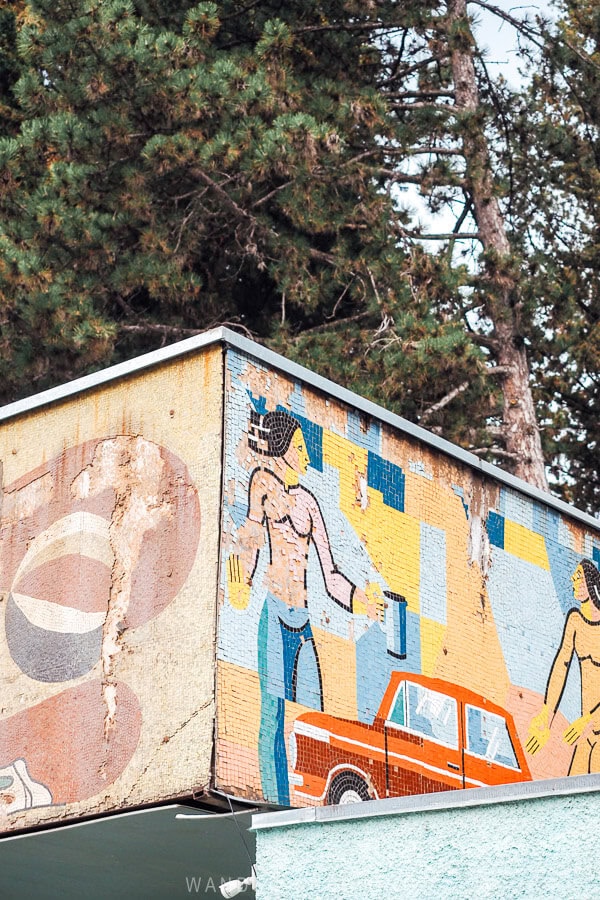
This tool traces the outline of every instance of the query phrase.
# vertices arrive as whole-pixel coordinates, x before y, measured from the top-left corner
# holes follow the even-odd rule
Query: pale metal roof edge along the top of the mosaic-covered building
[[[382,406],[373,403],[371,400],[366,400],[359,394],[355,394],[353,391],[341,387],[334,381],[330,381],[328,378],[317,375],[316,372],[312,372],[305,366],[291,362],[284,356],[274,353],[267,347],[263,347],[262,344],[251,341],[248,338],[231,331],[229,328],[220,327],[202,332],[201,334],[194,335],[194,337],[186,338],[186,340],[178,341],[175,344],[170,344],[168,347],[162,347],[160,350],[153,350],[151,353],[145,353],[142,356],[137,356],[127,362],[119,363],[116,366],[110,366],[99,372],[94,372],[92,375],[84,375],[82,378],[77,378],[74,381],[69,381],[58,387],[50,388],[50,390],[42,391],[39,394],[33,394],[31,397],[25,397],[23,400],[16,400],[14,403],[9,403],[0,408],[0,422],[6,422],[17,416],[34,412],[44,406],[67,400],[71,397],[83,394],[86,391],[110,384],[113,381],[137,375],[145,369],[154,368],[162,363],[179,359],[182,356],[197,353],[198,351],[214,346],[215,344],[221,344],[239,350],[241,353],[252,357],[262,365],[277,369],[283,374],[288,375],[290,378],[301,381],[317,391],[321,391],[348,406],[352,406],[365,415],[377,419],[385,425],[389,425],[403,434],[426,444],[428,447],[475,469],[484,477],[487,476],[495,481],[501,482],[513,490],[520,491],[528,497],[531,497],[533,500],[537,500],[591,528],[600,528],[599,520],[594,516],[589,515],[589,513],[583,512],[583,510],[577,509],[577,507],[571,506],[563,500],[559,500],[552,494],[539,490],[539,488],[528,484],[521,478],[516,478],[514,475],[503,471],[503,469],[498,468],[498,466],[494,466],[492,463],[479,459],[478,456],[475,456],[475,454],[470,453],[468,450],[463,450],[462,447],[452,444],[444,438],[438,437],[436,434],[427,431],[420,425],[415,425],[412,422],[409,422],[408,419],[403,419],[401,416],[396,415],[396,413],[389,412]]]

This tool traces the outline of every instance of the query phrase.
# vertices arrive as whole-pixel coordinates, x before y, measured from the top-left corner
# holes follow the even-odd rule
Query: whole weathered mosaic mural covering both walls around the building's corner
[[[0,461],[0,830],[600,771],[581,521],[219,343]]]

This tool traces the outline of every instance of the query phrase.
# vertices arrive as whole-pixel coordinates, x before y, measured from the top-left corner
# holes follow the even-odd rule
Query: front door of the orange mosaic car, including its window
[[[385,722],[387,795],[462,788],[459,705],[417,681],[401,681]]]

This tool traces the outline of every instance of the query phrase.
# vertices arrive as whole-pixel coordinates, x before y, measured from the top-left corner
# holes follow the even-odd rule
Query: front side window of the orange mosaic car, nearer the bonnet
[[[458,749],[456,700],[446,694],[403,681],[388,722]]]

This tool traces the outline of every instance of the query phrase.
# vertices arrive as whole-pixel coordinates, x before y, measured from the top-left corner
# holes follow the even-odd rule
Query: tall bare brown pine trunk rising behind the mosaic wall
[[[507,452],[515,460],[515,475],[548,490],[542,443],[531,393],[527,351],[519,327],[518,275],[512,264],[504,218],[494,194],[494,178],[483,124],[478,122],[479,92],[473,63],[474,39],[466,10],[467,0],[448,0],[452,74],[455,105],[462,122],[462,147],[466,162],[467,190],[484,251],[494,259],[487,265],[490,285],[486,312],[494,325],[497,364],[505,369],[503,436]],[[459,30],[456,26],[461,26]]]

